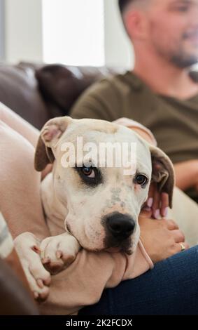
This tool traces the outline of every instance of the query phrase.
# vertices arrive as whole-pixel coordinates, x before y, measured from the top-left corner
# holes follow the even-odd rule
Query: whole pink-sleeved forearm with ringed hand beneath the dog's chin
[[[41,313],[76,314],[85,305],[97,303],[105,288],[152,268],[151,260],[157,262],[181,251],[178,242],[183,242],[183,234],[171,220],[161,222],[145,217],[140,219],[140,226],[143,246],[140,243],[132,256],[81,250],[69,268],[52,277],[48,299],[40,305]]]

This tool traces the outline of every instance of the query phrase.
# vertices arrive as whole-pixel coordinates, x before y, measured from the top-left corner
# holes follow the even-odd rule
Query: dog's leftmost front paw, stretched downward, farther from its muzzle
[[[41,263],[38,240],[30,232],[23,232],[15,238],[14,244],[34,298],[45,300],[49,294],[51,277]]]

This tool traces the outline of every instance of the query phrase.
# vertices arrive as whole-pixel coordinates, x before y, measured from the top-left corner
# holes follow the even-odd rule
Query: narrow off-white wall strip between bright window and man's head
[[[104,0],[104,25],[106,65],[131,69],[134,53],[122,24],[117,0]]]

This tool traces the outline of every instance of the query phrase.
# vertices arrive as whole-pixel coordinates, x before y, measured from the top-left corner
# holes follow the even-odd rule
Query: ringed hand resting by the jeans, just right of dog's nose
[[[149,213],[139,216],[140,238],[153,263],[181,252],[181,244],[189,249],[183,232],[174,220],[156,221],[148,216]]]

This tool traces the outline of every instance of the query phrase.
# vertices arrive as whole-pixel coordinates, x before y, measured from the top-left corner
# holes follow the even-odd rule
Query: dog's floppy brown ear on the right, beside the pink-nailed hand
[[[161,149],[150,145],[152,160],[152,180],[156,182],[160,192],[169,194],[169,206],[172,208],[175,173],[174,166]]]

